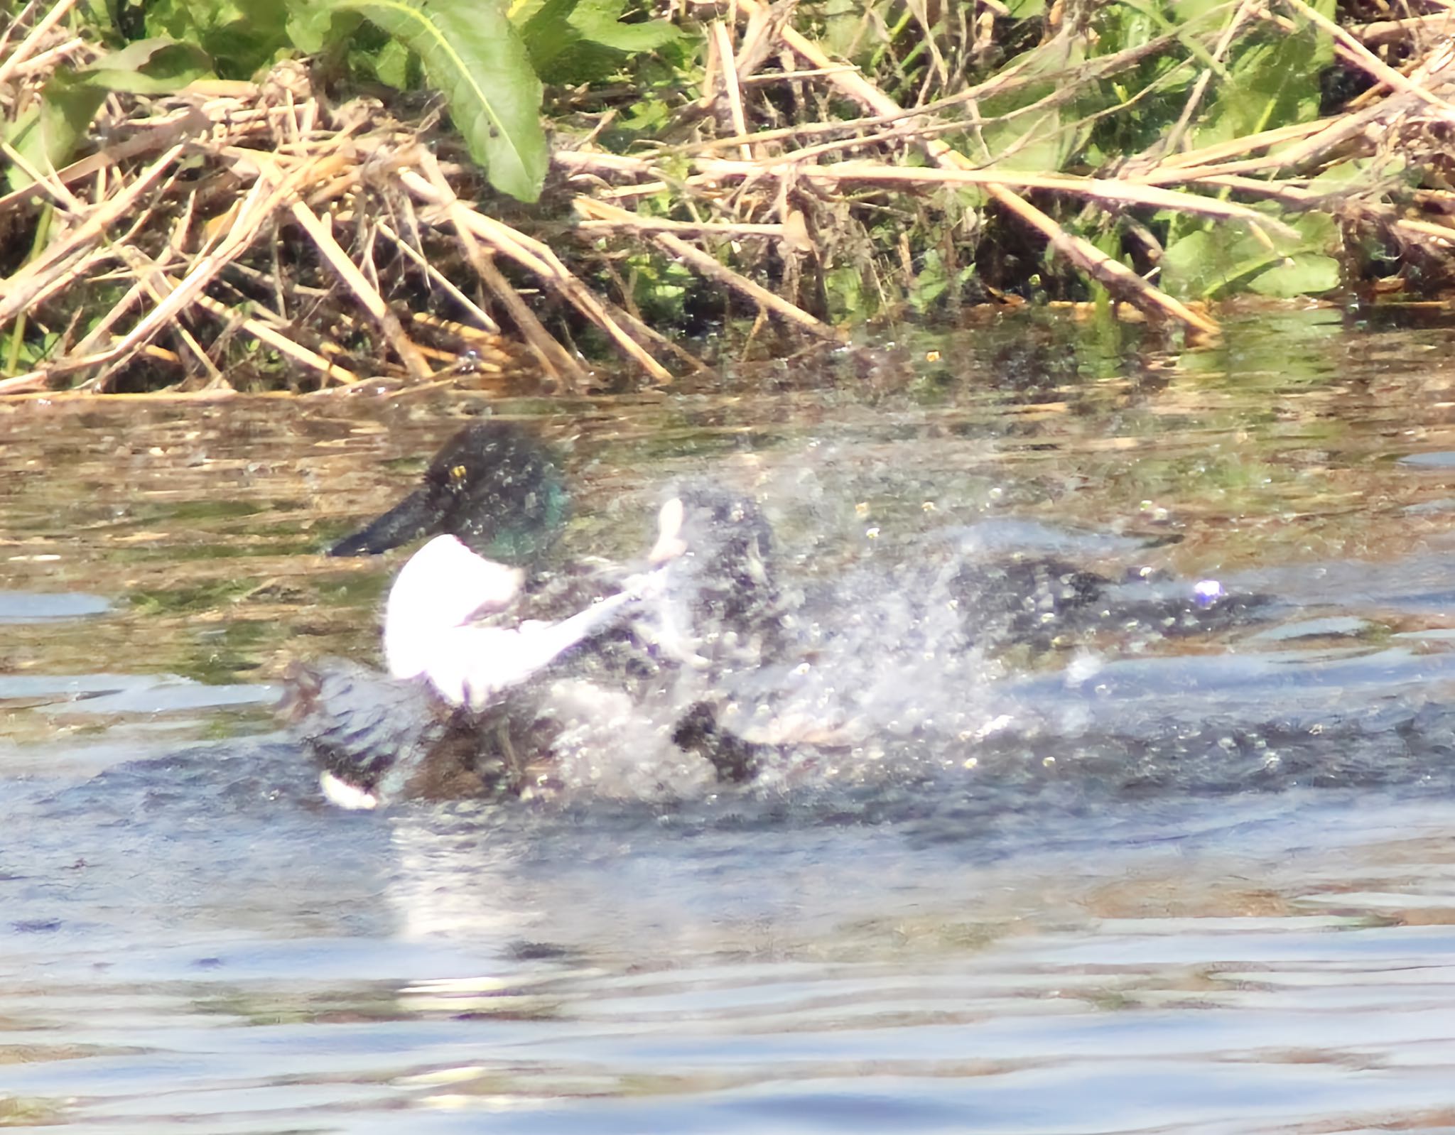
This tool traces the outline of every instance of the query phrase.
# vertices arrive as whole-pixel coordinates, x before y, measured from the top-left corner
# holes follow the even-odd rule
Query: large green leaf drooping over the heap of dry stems
[[[316,7],[358,12],[419,55],[490,185],[521,201],[540,196],[550,162],[541,83],[498,0],[316,0]],[[327,28],[316,19],[290,31],[295,26],[306,36]]]

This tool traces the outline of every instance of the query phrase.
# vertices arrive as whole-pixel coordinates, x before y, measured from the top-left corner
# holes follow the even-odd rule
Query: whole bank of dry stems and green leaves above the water
[[[1206,336],[1451,275],[1435,0],[0,10],[0,393],[570,391],[722,327],[1081,300]]]

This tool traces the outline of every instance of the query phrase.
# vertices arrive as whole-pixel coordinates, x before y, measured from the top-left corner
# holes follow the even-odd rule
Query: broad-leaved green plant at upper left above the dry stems
[[[404,86],[422,64],[470,156],[501,192],[534,201],[546,178],[541,81],[601,79],[669,44],[662,20],[623,22],[630,0],[156,0],[147,39],[60,68],[6,140],[38,170],[65,164],[111,92],[169,93],[217,76],[250,79],[290,54],[362,48],[375,77]],[[377,32],[370,35],[364,23]],[[111,33],[129,25],[121,12]],[[10,188],[31,183],[22,169]]]

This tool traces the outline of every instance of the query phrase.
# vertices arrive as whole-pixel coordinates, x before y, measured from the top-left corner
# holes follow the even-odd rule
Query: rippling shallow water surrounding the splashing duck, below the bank
[[[1455,1126],[1452,345],[1007,322],[549,416],[0,405],[0,1125]],[[1131,582],[873,774],[335,811],[268,703],[377,656],[402,557],[316,550],[486,407],[566,451],[575,554],[707,474],[866,601],[966,533]],[[1195,581],[1257,604],[1128,617]]]

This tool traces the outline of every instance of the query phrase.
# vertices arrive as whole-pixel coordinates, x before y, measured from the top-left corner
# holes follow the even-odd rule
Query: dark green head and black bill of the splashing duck
[[[445,442],[416,492],[329,554],[370,556],[450,534],[489,560],[524,565],[554,543],[569,512],[566,480],[541,441],[511,422],[479,422]]]

